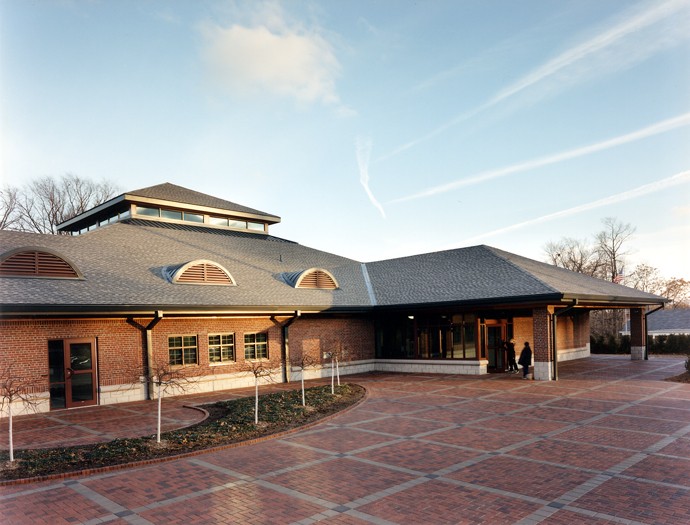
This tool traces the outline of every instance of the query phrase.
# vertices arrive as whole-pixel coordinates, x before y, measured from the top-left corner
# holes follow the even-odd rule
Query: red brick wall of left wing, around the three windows
[[[282,323],[289,317],[263,318],[163,318],[152,330],[154,361],[167,363],[168,337],[197,336],[198,365],[195,376],[228,377],[249,369],[244,359],[244,335],[268,334],[266,366],[279,369],[282,351]],[[48,389],[48,341],[93,339],[96,341],[99,386],[135,385],[143,373],[146,355],[145,327],[151,319],[127,322],[115,320],[25,320],[0,321],[0,369],[13,363],[13,371],[38,383],[37,391]],[[227,363],[209,362],[208,335],[233,333],[235,360]],[[364,319],[300,318],[289,328],[290,352],[299,356],[306,352],[318,363],[323,352],[337,348],[346,352],[341,362],[373,359],[374,328]]]

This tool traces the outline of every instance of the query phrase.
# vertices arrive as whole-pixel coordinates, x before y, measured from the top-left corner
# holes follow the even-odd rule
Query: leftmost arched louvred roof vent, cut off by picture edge
[[[61,255],[45,248],[20,248],[0,256],[0,277],[81,279],[81,273]]]

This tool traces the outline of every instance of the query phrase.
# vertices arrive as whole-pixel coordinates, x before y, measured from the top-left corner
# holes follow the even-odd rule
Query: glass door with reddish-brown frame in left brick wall
[[[96,404],[96,359],[92,339],[49,341],[50,408]]]

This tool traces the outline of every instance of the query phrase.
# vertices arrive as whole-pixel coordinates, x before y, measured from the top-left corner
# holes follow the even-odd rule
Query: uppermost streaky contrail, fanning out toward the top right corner
[[[475,115],[526,91],[528,88],[537,86],[546,80],[552,79],[558,74],[564,73],[573,66],[579,66],[582,68],[583,63],[588,59],[597,60],[600,59],[602,55],[606,57],[605,53],[610,52],[610,48],[620,45],[626,38],[629,38],[631,35],[638,33],[639,31],[642,31],[643,29],[652,26],[657,22],[671,18],[672,16],[676,15],[678,11],[687,9],[689,5],[690,4],[687,0],[668,0],[660,4],[652,3],[651,7],[645,11],[629,16],[613,27],[610,27],[609,29],[597,34],[593,38],[564,51],[557,57],[542,64],[540,67],[518,79],[513,84],[499,91],[484,104],[457,115],[450,121],[442,124],[429,133],[398,146],[393,151],[383,155],[382,157],[379,157],[376,160],[377,162],[386,160],[416,146],[417,144],[426,142],[440,133],[443,133],[447,129],[456,126],[460,122],[466,121],[471,117],[474,117]],[[679,26],[682,23],[682,21],[678,21]],[[606,63],[603,64],[604,67],[599,65],[599,69],[610,71],[616,67],[630,67],[640,60],[647,58],[650,54],[656,52],[659,47],[670,45],[673,41],[675,41],[675,38],[688,38],[689,34],[690,33],[687,31],[679,31],[676,35],[669,36],[666,31],[659,31],[659,36],[656,38],[654,43],[638,42],[634,46],[629,46],[629,48],[624,50],[625,53],[621,54],[619,52],[618,55],[614,56],[614,64],[611,64],[610,61],[606,61]],[[585,63],[584,65],[586,66],[587,64]],[[585,67],[584,70],[581,69],[576,75],[571,75],[571,81],[573,76],[578,79],[585,78],[586,75],[583,73],[583,71],[591,74],[593,69],[597,69],[596,65],[594,67],[591,67],[590,65],[589,68]]]

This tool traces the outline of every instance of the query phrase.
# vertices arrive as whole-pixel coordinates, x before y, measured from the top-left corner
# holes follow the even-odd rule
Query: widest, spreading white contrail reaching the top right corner
[[[690,18],[688,0],[667,0],[647,5],[643,10],[637,6],[630,9],[623,19],[540,65],[484,104],[455,116],[376,160],[394,157],[518,95],[529,95],[533,103],[537,98],[562,91],[575,83],[632,67],[659,50],[690,38],[690,32],[687,31]]]

